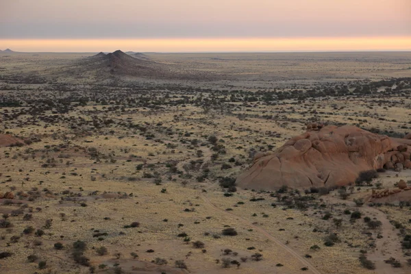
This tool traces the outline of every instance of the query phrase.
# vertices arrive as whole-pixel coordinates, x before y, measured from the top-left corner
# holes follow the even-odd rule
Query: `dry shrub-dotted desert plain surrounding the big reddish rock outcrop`
[[[235,185],[308,123],[410,133],[410,52],[0,52],[0,121],[1,273],[410,273],[366,200],[409,169]]]

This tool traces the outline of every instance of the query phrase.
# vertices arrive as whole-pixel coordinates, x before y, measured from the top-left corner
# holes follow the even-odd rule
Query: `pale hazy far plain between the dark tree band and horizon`
[[[4,64],[12,64],[10,69],[23,69],[21,73],[38,73],[44,77],[59,77],[62,81],[77,82],[103,81],[94,75],[98,69],[108,69],[108,64],[90,67],[87,62],[97,53],[21,53],[5,55]],[[192,77],[196,81],[236,80],[232,85],[247,86],[252,82],[262,87],[277,87],[282,82],[292,84],[315,84],[321,82],[348,82],[361,79],[385,79],[386,77],[408,77],[411,68],[410,52],[370,52],[370,53],[145,53],[141,58],[136,53],[127,55],[140,62],[156,64],[152,73],[149,69],[138,73],[138,68],[127,73],[114,73],[120,79],[125,76],[150,76],[159,80],[167,78],[184,79]],[[125,54],[123,54],[123,58]],[[128,60],[129,61],[129,60]],[[125,60],[124,63],[127,63]],[[7,75],[8,66],[3,66],[2,75]],[[108,69],[110,70],[110,69]],[[157,70],[157,72],[155,72]],[[13,71],[9,71],[13,73]],[[80,73],[82,73],[80,75]],[[165,74],[165,75],[164,75]],[[123,78],[121,77],[123,76]],[[191,84],[191,83],[190,83]],[[250,88],[253,88],[252,86]]]

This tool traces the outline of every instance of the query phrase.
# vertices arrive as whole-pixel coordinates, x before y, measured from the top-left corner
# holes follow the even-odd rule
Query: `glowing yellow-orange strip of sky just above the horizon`
[[[23,52],[411,51],[411,37],[0,39]]]

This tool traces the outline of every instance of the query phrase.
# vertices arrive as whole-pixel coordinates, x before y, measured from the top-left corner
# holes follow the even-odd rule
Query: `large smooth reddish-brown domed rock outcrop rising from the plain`
[[[362,171],[410,160],[397,150],[410,151],[408,146],[411,140],[388,138],[354,126],[309,125],[306,133],[291,138],[270,155],[259,155],[236,183],[242,188],[265,190],[283,185],[345,186],[355,182]]]

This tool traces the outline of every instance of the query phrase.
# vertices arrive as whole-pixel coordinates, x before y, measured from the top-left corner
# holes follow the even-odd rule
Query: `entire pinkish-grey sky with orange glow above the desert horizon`
[[[0,0],[15,51],[411,50],[411,0]]]

